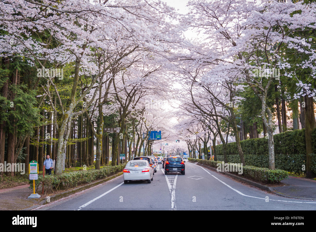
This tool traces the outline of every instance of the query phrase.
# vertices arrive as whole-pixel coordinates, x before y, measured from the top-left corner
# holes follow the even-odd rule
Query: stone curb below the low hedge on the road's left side
[[[109,180],[112,180],[112,179],[114,179],[114,178],[116,178],[116,177],[119,177],[119,176],[121,176],[121,175],[123,175],[123,172],[117,173],[117,174],[115,174],[115,175],[113,175],[113,176],[111,176],[111,177],[107,177],[106,179],[98,180],[98,181],[96,181],[96,182],[89,183],[89,184],[87,184],[87,185],[83,185],[83,186],[74,188],[74,189],[72,189],[72,190],[68,190],[68,191],[65,191],[65,192],[62,192],[62,193],[59,193],[59,194],[50,196],[50,202],[55,201],[55,200],[59,200],[59,199],[64,198],[64,197],[68,197],[68,196],[70,196],[70,195],[72,195],[72,194],[81,192],[82,190],[85,190],[85,189],[94,187],[94,186],[96,186],[96,185],[98,185],[98,184],[105,183],[105,182],[107,182],[107,181],[109,181]],[[46,205],[47,203],[50,203],[50,202],[47,202],[47,200],[44,199],[44,200],[40,201],[38,205],[34,205],[34,206],[31,206],[31,207],[28,207],[28,208],[26,208],[26,209],[24,209],[24,210],[35,209],[35,208],[37,208],[37,207],[39,207],[39,206]]]

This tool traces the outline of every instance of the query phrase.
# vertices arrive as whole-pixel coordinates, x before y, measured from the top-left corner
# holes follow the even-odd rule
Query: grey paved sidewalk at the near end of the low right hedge
[[[289,179],[284,179],[281,183],[286,185],[273,188],[277,195],[304,200],[316,200],[316,180],[289,176]]]

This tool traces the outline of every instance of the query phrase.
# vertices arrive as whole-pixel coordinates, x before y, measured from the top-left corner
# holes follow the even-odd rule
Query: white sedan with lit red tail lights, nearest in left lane
[[[147,160],[131,160],[123,170],[124,183],[132,180],[147,180],[151,183],[154,176],[154,170],[150,167]]]

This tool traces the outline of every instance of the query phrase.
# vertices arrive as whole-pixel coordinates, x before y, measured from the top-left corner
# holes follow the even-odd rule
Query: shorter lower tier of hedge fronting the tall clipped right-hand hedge
[[[316,155],[312,156],[312,171],[316,171]],[[269,156],[268,155],[244,155],[246,165],[255,167],[268,168],[269,167]],[[227,161],[230,163],[240,163],[239,155],[228,155]],[[223,155],[217,155],[218,161],[224,161]],[[275,155],[276,169],[282,169],[288,172],[296,174],[306,174],[305,170],[302,170],[302,165],[306,167],[306,155],[303,154],[276,154]],[[316,173],[316,172],[315,172]]]

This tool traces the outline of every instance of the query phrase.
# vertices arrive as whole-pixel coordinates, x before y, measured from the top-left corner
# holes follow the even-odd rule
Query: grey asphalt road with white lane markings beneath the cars
[[[150,184],[120,176],[38,210],[316,210],[316,201],[270,194],[188,161],[185,175],[161,167]]]

